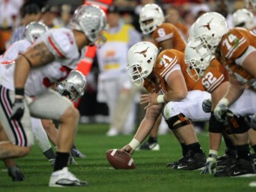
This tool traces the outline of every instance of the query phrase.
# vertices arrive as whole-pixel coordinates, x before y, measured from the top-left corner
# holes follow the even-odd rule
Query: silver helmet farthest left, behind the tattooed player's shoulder
[[[27,24],[24,31],[24,38],[30,43],[33,43],[38,37],[44,34],[46,30],[48,30],[48,27],[44,23],[33,21]]]

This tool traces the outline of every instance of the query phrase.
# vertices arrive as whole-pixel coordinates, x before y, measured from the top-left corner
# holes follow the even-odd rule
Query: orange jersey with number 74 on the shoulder
[[[236,63],[249,46],[256,48],[256,34],[251,30],[236,27],[224,35],[219,43],[221,62],[238,82],[249,87],[255,82],[254,77]]]

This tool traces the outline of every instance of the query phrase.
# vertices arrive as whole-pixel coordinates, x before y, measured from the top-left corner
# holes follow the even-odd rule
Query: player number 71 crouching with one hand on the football
[[[190,119],[204,121],[210,117],[201,107],[204,98],[210,98],[210,94],[201,91],[202,85],[196,84],[188,75],[184,54],[175,49],[159,52],[155,44],[140,42],[129,49],[127,70],[132,82],[143,85],[150,94],[141,95],[141,104],[148,103],[146,115],[135,137],[123,150],[133,154],[163,111],[166,123],[184,148],[183,158],[173,168],[202,168],[206,158]],[[197,88],[193,90],[194,87]]]

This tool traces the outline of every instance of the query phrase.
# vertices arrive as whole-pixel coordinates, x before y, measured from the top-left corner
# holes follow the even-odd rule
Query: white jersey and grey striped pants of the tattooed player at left
[[[76,68],[80,54],[72,30],[48,30],[34,44],[41,42],[55,56],[55,61],[30,69],[25,84],[25,111],[20,121],[10,120],[15,99],[15,65],[10,65],[1,76],[0,121],[9,140],[18,146],[31,146],[34,143],[30,115],[36,118],[59,119],[73,105],[69,99],[49,88],[55,82],[65,79],[69,71]]]

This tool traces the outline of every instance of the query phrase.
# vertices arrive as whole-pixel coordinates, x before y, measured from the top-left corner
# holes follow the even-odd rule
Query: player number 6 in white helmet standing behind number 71
[[[186,43],[179,30],[171,23],[165,22],[163,10],[157,4],[146,4],[140,12],[140,29],[144,35],[151,35],[158,48],[176,49],[184,52]],[[162,115],[160,115],[151,131],[149,139],[142,144],[139,149],[149,149],[158,151],[160,146],[157,142],[158,127],[160,126]]]

